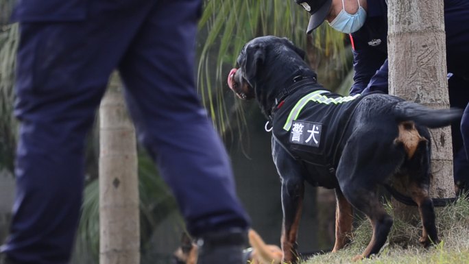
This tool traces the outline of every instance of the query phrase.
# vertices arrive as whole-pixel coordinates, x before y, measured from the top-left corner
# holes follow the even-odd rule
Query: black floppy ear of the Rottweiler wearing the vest
[[[258,68],[265,60],[265,43],[248,43],[248,45],[245,46],[244,51],[245,60],[244,65],[241,65],[241,67],[244,67],[246,80],[251,86],[254,86],[253,82],[258,74]]]

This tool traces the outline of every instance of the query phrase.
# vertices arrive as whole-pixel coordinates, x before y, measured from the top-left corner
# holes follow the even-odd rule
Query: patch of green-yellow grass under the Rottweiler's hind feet
[[[394,224],[381,252],[363,264],[462,264],[469,263],[469,200],[460,199],[455,204],[435,208],[437,230],[442,243],[428,249],[418,239],[422,233],[420,218],[410,222],[394,217],[392,206],[385,205],[393,216]],[[417,225],[412,225],[411,223]],[[359,219],[352,233],[352,242],[344,250],[313,256],[303,264],[353,263],[352,258],[361,254],[371,239],[372,231],[368,220]]]

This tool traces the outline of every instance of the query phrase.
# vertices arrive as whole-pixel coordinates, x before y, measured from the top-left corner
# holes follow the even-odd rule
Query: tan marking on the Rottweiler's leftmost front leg
[[[297,205],[297,210],[295,218],[293,219],[293,223],[291,224],[291,226],[289,226],[288,230],[285,230],[285,224],[282,228],[282,262],[285,263],[296,263],[298,259],[298,253],[296,252],[296,237],[298,235],[298,226],[300,226],[302,204],[303,199],[301,198],[299,204]]]

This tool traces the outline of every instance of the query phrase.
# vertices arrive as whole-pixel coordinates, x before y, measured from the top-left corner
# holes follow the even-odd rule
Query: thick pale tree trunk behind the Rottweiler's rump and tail
[[[449,108],[443,1],[388,1],[389,94]],[[454,197],[450,128],[431,130],[431,197]],[[402,206],[394,204],[395,206]],[[396,213],[409,208],[396,208]]]

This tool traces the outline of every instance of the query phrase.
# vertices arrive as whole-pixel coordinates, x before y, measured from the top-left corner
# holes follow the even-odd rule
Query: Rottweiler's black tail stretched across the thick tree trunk
[[[397,121],[414,121],[428,128],[441,128],[455,121],[461,121],[463,110],[430,109],[411,101],[400,101],[394,106]]]

